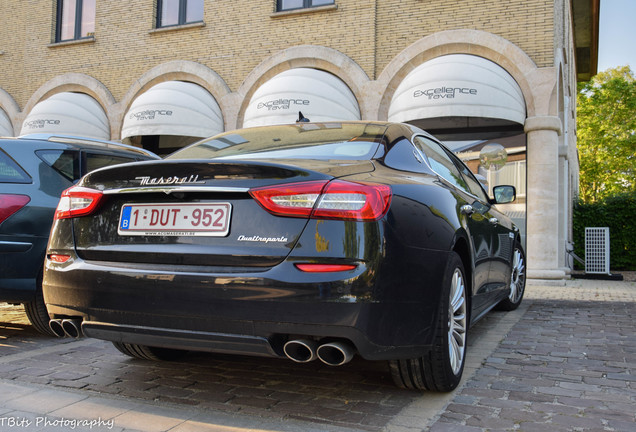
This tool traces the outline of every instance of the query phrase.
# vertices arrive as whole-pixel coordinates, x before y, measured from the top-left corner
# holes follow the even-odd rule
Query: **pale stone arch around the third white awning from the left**
[[[137,96],[152,86],[165,81],[187,81],[206,89],[221,107],[225,128],[228,128],[228,115],[226,113],[232,109],[231,102],[229,102],[231,100],[231,91],[223,78],[209,67],[200,63],[173,60],[150,69],[128,89],[122,100],[117,104],[117,134],[121,132],[123,118]]]

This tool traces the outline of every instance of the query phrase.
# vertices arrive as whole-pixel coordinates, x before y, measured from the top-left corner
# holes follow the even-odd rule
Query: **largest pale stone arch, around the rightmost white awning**
[[[537,68],[532,59],[512,42],[480,30],[447,30],[426,36],[405,48],[377,80],[379,120],[388,118],[389,105],[402,80],[424,62],[448,54],[483,57],[504,68],[517,82],[526,102],[528,117],[548,115],[546,86],[554,86],[553,68]],[[549,94],[549,92],[547,92]]]

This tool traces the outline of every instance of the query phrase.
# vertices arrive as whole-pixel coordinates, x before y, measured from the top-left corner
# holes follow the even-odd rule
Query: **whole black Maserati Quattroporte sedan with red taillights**
[[[467,329],[519,306],[519,230],[439,141],[410,125],[226,132],[67,189],[47,249],[51,329],[126,355],[188,350],[388,361],[450,391]]]

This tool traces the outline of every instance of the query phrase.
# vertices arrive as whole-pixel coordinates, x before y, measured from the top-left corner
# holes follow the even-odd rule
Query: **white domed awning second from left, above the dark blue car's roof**
[[[102,106],[83,93],[58,93],[37,103],[22,123],[20,135],[57,133],[110,139],[108,117]]]

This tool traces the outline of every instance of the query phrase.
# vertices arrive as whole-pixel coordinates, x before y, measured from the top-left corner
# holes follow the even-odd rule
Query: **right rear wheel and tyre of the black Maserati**
[[[389,361],[398,387],[449,392],[459,385],[466,360],[468,326],[465,281],[464,265],[459,255],[451,252],[444,274],[435,345],[422,357]]]

